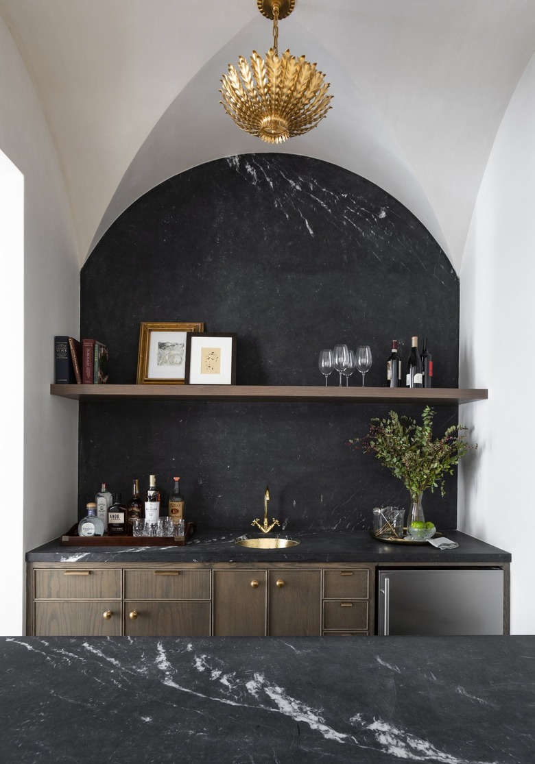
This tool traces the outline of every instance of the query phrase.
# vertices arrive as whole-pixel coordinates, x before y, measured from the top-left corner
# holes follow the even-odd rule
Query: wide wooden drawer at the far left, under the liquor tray
[[[112,600],[121,597],[121,571],[68,568],[34,571],[36,600]]]

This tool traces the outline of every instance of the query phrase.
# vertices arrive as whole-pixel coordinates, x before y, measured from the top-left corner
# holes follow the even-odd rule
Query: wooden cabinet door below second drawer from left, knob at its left
[[[209,636],[209,602],[125,601],[126,636]]]

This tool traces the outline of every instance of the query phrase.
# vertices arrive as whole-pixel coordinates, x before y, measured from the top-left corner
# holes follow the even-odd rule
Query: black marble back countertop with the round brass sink
[[[300,544],[287,549],[247,549],[235,539],[255,535],[240,530],[201,530],[185,546],[62,546],[60,539],[27,552],[27,562],[511,562],[511,554],[460,531],[447,531],[456,549],[436,549],[429,543],[418,545],[384,543],[368,531],[291,530],[287,534]]]

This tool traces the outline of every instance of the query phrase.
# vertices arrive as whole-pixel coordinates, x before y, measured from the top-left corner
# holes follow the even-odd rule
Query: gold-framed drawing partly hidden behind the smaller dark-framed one
[[[203,323],[141,323],[137,384],[184,384],[186,336]]]

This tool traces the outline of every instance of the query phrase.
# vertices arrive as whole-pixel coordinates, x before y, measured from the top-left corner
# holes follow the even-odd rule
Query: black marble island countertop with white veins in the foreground
[[[535,636],[0,638],[3,764],[528,764]]]

